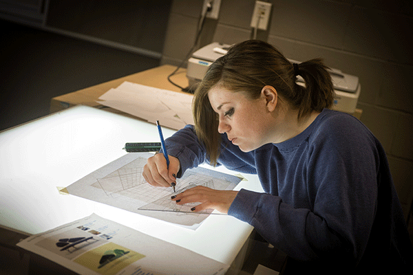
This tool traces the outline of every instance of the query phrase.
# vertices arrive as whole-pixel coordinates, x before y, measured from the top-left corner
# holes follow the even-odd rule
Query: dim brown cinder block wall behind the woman
[[[268,30],[257,39],[287,58],[324,58],[359,76],[361,121],[388,154],[405,217],[413,197],[413,4],[407,0],[271,0]],[[195,40],[203,0],[174,0],[161,63],[178,65]],[[253,38],[255,0],[222,0],[208,19],[200,45]]]

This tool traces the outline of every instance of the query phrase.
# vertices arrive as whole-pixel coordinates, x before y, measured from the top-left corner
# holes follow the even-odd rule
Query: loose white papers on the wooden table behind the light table
[[[125,81],[100,96],[99,104],[129,113],[171,129],[193,124],[191,94],[158,89]]]

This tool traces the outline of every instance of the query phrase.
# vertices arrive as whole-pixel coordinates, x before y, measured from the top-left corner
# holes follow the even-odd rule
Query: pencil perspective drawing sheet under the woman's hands
[[[128,153],[76,181],[68,186],[67,190],[78,197],[182,225],[193,225],[205,219],[212,210],[192,212],[191,208],[198,203],[179,206],[171,200],[173,188],[147,184],[142,170],[149,156],[149,153]],[[182,178],[177,179],[175,194],[194,186],[233,190],[240,181],[239,177],[233,175],[207,168],[194,168],[187,170]]]

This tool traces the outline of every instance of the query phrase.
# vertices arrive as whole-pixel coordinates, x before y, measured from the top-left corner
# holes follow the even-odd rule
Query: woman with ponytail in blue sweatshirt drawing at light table
[[[143,175],[168,187],[203,162],[257,173],[265,193],[195,187],[171,199],[250,223],[295,261],[286,272],[405,268],[412,244],[385,152],[359,120],[328,109],[327,69],[262,41],[234,45],[195,91],[195,126],[167,139],[169,169],[156,154]]]

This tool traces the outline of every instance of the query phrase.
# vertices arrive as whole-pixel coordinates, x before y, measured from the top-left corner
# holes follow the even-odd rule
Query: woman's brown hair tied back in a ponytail
[[[293,65],[264,41],[233,45],[209,67],[193,98],[195,131],[206,146],[211,164],[217,163],[221,144],[218,114],[208,98],[212,87],[219,83],[230,91],[244,92],[252,100],[260,97],[264,86],[271,85],[293,109],[298,109],[301,118],[313,110],[331,107],[334,91],[327,69],[319,58]],[[297,75],[304,78],[305,87],[297,85]]]

